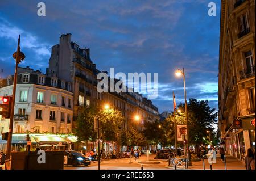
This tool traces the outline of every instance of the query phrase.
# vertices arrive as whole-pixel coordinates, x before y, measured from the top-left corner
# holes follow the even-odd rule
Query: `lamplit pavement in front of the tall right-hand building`
[[[205,164],[205,170],[210,170],[210,164],[208,163],[208,157],[204,159],[204,164]],[[168,166],[166,166],[168,167]],[[173,169],[173,167],[168,167],[170,169]],[[180,169],[185,169],[184,167],[181,168],[177,166],[177,170]],[[192,166],[189,166],[189,170],[203,170],[203,161],[198,161],[198,162],[192,162]],[[238,159],[226,155],[226,169],[227,170],[245,170],[245,163],[242,161],[239,161]],[[212,164],[212,170],[225,170],[225,165],[224,163],[221,162],[220,154],[217,154],[217,159],[216,163]]]

